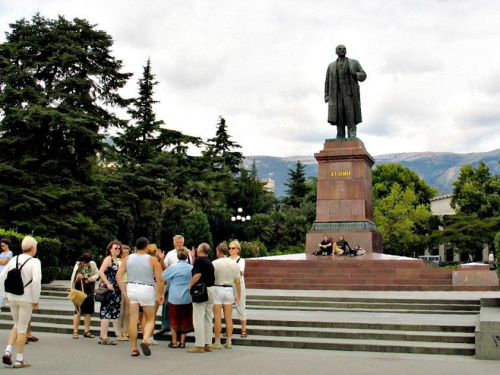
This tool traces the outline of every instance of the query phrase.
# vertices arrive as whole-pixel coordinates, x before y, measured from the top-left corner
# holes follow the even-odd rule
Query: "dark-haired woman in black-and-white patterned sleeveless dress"
[[[111,297],[106,303],[101,303],[100,318],[101,318],[101,335],[99,344],[116,345],[116,341],[108,338],[109,321],[113,321],[113,326],[116,326],[117,319],[120,317],[120,305],[122,294],[118,288],[116,274],[118,272],[118,258],[122,253],[122,243],[120,241],[111,241],[106,248],[106,258],[104,258],[101,268],[99,269],[99,277],[102,284],[110,290]]]

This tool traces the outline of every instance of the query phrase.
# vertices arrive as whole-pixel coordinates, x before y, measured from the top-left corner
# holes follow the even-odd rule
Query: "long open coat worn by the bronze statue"
[[[348,71],[346,72],[349,77],[349,83],[346,85],[347,100],[349,103],[346,111],[354,111],[354,123],[359,124],[361,119],[361,99],[359,95],[358,81],[363,82],[366,79],[366,73],[357,60],[346,58],[348,63]],[[351,75],[351,72],[356,72],[356,78]],[[337,61],[328,65],[325,80],[325,100],[328,99],[328,122],[332,125],[337,125],[337,108],[338,108],[338,79],[337,79]],[[340,92],[339,92],[340,93]],[[352,102],[352,104],[351,104]],[[338,124],[347,125],[347,124]]]

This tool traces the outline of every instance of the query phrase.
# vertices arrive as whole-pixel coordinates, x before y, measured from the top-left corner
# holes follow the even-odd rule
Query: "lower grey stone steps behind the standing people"
[[[480,295],[461,298],[456,293],[440,293],[440,298],[417,298],[408,297],[411,293],[379,293],[371,297],[366,296],[370,292],[353,292],[350,296],[322,293],[247,289],[248,337],[240,338],[235,320],[233,344],[466,356],[475,353],[474,329]],[[65,285],[43,286],[41,308],[32,319],[35,334],[71,334],[73,307],[66,295]],[[157,329],[159,320],[158,316]],[[0,329],[11,326],[8,307],[4,307]],[[98,314],[92,317],[91,330],[99,335]],[[188,342],[192,341],[193,335],[189,334]]]

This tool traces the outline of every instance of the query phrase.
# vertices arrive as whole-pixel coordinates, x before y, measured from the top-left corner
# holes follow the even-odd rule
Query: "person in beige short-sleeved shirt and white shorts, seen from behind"
[[[220,337],[222,333],[222,309],[226,322],[226,349],[232,348],[233,336],[233,303],[238,303],[241,296],[240,268],[231,258],[228,258],[229,249],[223,242],[217,246],[217,260],[213,261],[215,270],[215,296],[214,296],[214,332],[215,344],[213,349],[221,349]],[[237,296],[233,294],[233,285],[236,286]]]

